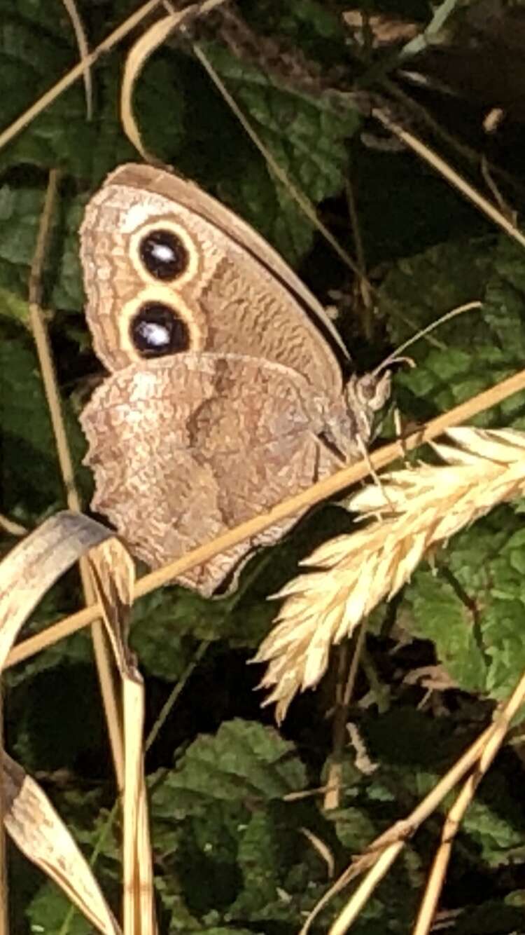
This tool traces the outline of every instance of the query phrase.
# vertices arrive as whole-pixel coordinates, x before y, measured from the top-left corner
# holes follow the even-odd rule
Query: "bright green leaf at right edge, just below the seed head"
[[[455,536],[435,572],[419,568],[404,591],[404,626],[433,640],[464,691],[505,698],[525,669],[525,536],[510,507]]]

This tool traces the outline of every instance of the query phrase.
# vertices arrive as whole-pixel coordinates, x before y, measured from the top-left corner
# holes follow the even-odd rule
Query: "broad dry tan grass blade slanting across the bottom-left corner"
[[[7,832],[21,851],[50,876],[105,935],[121,932],[64,822],[38,784],[3,754]]]

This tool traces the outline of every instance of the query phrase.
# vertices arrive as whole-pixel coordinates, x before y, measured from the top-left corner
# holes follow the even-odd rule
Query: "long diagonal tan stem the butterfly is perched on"
[[[473,396],[472,399],[461,403],[460,406],[456,406],[444,415],[437,416],[432,422],[422,426],[417,432],[414,432],[404,439],[403,444],[400,444],[399,441],[395,441],[390,445],[384,445],[376,452],[371,453],[368,459],[363,459],[350,468],[344,468],[338,471],[336,474],[333,474],[332,477],[327,477],[323,481],[319,481],[319,483],[314,484],[309,490],[301,494],[291,496],[290,499],[279,503],[278,506],[274,507],[269,513],[255,516],[253,519],[248,520],[247,523],[238,525],[234,529],[229,529],[228,532],[219,536],[217,539],[206,542],[206,545],[201,545],[198,549],[193,549],[191,553],[184,555],[182,558],[177,558],[176,561],[170,562],[163,568],[151,571],[136,583],[134,593],[135,599],[137,597],[143,597],[156,588],[161,587],[163,584],[173,581],[173,579],[183,571],[187,571],[195,565],[202,565],[209,558],[220,554],[220,552],[225,552],[226,549],[231,548],[237,542],[242,541],[242,539],[248,539],[257,535],[262,532],[262,530],[268,528],[268,526],[274,525],[277,520],[284,519],[286,516],[291,516],[293,513],[303,511],[307,507],[319,503],[328,496],[334,496],[345,487],[350,486],[350,484],[361,481],[362,478],[366,477],[369,473],[369,464],[372,464],[376,470],[378,468],[384,468],[385,465],[390,464],[390,461],[393,461],[394,458],[403,457],[405,452],[412,451],[419,445],[437,438],[437,436],[445,432],[449,426],[460,424],[472,418],[478,412],[487,410],[490,406],[495,406],[508,396],[513,396],[513,394],[524,389],[525,370],[520,370],[507,380],[501,381],[497,385],[490,387],[489,390],[479,393],[477,396]],[[65,617],[64,620],[49,626],[42,633],[38,633],[28,640],[24,640],[9,653],[7,666],[13,666],[15,663],[21,662],[22,659],[29,658],[46,646],[52,645],[57,642],[57,640],[64,639],[64,637],[68,636],[70,633],[77,632],[77,630],[82,629],[83,626],[88,626],[97,616],[100,616],[100,612],[100,605],[98,603],[92,604],[91,607],[84,608],[82,611],[77,611],[77,613]]]

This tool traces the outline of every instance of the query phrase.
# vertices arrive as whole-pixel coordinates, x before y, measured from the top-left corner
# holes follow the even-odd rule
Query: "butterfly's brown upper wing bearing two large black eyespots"
[[[159,353],[241,353],[341,394],[337,359],[311,321],[328,327],[319,303],[262,237],[191,183],[118,169],[86,209],[81,258],[95,350],[110,370]]]

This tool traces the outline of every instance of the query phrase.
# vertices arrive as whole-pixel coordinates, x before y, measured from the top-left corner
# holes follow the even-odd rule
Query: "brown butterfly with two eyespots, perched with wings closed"
[[[112,371],[81,417],[92,507],[135,554],[161,565],[360,456],[368,412],[319,330],[336,346],[333,324],[231,211],[127,165],[80,233],[93,344]],[[212,594],[297,518],[179,580]]]

